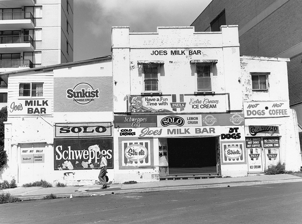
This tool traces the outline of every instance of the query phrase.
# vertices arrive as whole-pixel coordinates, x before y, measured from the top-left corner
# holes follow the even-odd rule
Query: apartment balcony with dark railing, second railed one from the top
[[[35,41],[31,36],[0,36],[1,53],[33,52],[34,50]]]

